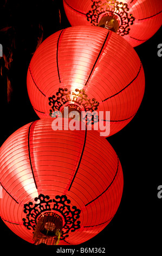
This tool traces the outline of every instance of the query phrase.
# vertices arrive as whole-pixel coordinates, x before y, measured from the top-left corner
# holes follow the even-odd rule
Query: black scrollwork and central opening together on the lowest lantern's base
[[[80,229],[78,219],[81,210],[74,205],[71,208],[71,202],[66,195],[57,195],[55,199],[50,199],[48,195],[40,194],[34,201],[35,204],[32,202],[24,204],[23,212],[27,215],[26,218],[23,218],[23,225],[28,230],[34,230],[33,241],[35,245],[40,245],[40,243],[58,245],[59,240],[65,240],[72,230],[74,232]]]

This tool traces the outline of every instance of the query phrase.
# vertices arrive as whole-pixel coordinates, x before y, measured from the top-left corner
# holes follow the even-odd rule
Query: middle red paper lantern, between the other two
[[[31,59],[27,87],[38,117],[62,112],[64,106],[101,111],[111,136],[137,113],[145,75],[138,54],[121,36],[101,27],[76,26],[42,42]]]

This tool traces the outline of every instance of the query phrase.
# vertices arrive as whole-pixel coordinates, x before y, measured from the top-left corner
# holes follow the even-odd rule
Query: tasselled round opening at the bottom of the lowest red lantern
[[[33,234],[35,245],[58,245],[62,232],[62,218],[54,212],[46,212],[39,218]]]

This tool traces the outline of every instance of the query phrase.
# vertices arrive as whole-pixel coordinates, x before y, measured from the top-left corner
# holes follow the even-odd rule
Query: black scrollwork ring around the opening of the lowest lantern
[[[23,218],[23,225],[31,230],[35,230],[37,220],[45,212],[60,212],[64,218],[64,225],[62,229],[62,234],[60,240],[66,239],[69,236],[69,231],[74,232],[76,229],[80,228],[80,218],[81,210],[77,209],[76,206],[70,206],[70,200],[67,196],[56,196],[55,199],[50,199],[49,196],[44,196],[40,194],[35,199],[35,203],[29,202],[24,204],[24,214],[26,218]]]

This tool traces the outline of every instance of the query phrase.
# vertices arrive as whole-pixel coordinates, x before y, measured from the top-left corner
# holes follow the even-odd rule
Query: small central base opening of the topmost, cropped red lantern
[[[105,14],[100,20],[98,27],[107,28],[117,33],[119,29],[118,17],[114,14]]]

